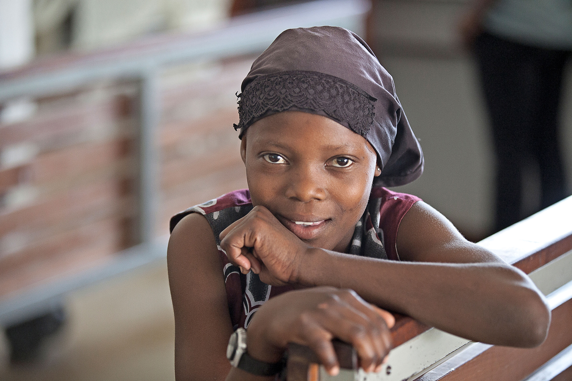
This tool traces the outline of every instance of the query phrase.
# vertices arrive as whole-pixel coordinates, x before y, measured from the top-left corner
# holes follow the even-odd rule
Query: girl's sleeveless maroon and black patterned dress
[[[370,258],[399,260],[396,249],[397,231],[403,216],[420,198],[374,187],[362,218],[356,223],[349,254]],[[227,290],[228,311],[233,329],[248,327],[256,310],[273,296],[293,290],[292,286],[271,286],[262,282],[257,274],[241,274],[238,267],[228,261],[220,248],[219,234],[231,223],[248,214],[253,208],[248,189],[236,190],[219,198],[190,207],[174,215],[170,231],[186,215],[200,213],[208,220],[215,234],[219,257]]]

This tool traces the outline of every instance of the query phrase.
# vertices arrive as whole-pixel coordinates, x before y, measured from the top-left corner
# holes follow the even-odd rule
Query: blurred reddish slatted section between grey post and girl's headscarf
[[[168,232],[174,213],[247,187],[232,125],[239,119],[235,93],[254,58],[182,66],[165,75],[157,234]]]

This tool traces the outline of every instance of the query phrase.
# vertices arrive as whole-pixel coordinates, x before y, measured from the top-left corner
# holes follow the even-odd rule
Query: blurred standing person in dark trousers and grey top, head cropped
[[[541,208],[567,195],[558,110],[572,1],[474,0],[459,29],[475,53],[492,123],[498,231],[523,217],[525,166],[538,163]]]

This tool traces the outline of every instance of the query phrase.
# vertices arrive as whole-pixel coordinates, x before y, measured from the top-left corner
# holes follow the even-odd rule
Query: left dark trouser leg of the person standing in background
[[[521,218],[522,166],[529,160],[531,115],[528,52],[522,45],[482,34],[475,41],[496,155],[495,231]]]

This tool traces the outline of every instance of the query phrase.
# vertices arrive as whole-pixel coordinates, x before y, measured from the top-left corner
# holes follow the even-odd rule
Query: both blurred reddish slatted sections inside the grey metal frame
[[[157,235],[177,211],[247,186],[232,125],[252,60],[162,76]],[[137,97],[135,82],[96,83],[37,99],[33,117],[0,125],[0,297],[134,243]]]

